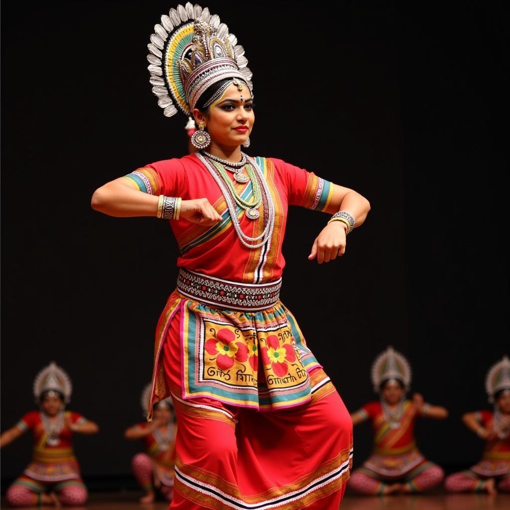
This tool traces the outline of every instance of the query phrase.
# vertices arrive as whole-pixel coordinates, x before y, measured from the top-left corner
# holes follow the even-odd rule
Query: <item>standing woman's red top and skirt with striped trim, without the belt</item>
[[[180,196],[184,200],[206,197],[222,216],[223,221],[213,227],[186,220],[170,222],[181,250],[177,266],[233,282],[267,283],[281,277],[285,265],[282,243],[288,206],[323,211],[329,205],[333,185],[281,160],[257,158],[256,162],[275,205],[272,238],[257,249],[249,249],[239,241],[218,185],[195,155],[147,165],[126,177],[140,190],[154,195]],[[234,184],[248,200],[251,184]],[[247,235],[262,233],[263,206],[260,212],[259,220],[253,221],[238,210]],[[259,399],[255,395],[244,401],[233,387],[217,393],[213,393],[212,385],[212,390],[206,388],[200,393],[189,390],[193,377],[188,380],[183,376],[194,374],[190,367],[195,358],[189,349],[195,337],[188,334],[189,323],[193,320],[199,325],[206,319],[221,322],[214,342],[209,339],[201,345],[202,352],[220,360],[219,372],[232,370],[228,375],[233,375],[250,369],[250,377],[266,372],[271,377],[279,376],[281,384],[289,386],[277,389],[283,398],[265,399],[266,387]],[[242,343],[239,341],[233,347],[235,359],[225,355],[220,359],[218,352],[229,349],[234,342],[228,342],[228,338],[239,325],[244,328],[244,322],[252,324],[252,338],[259,338],[261,343],[247,340],[238,345]],[[272,338],[269,329],[278,327],[287,329]],[[226,329],[232,329],[231,333],[227,334]],[[251,355],[252,350],[258,355]],[[276,362],[273,351],[285,358],[285,366]],[[297,380],[297,374],[303,374],[308,386],[290,395],[293,390],[289,381],[291,376]],[[263,387],[265,381],[260,376],[258,381]],[[157,328],[152,400],[170,394],[178,423],[172,510],[338,509],[352,463],[352,422],[333,383],[282,303],[263,313],[233,312],[206,307],[177,291],[172,293]]]

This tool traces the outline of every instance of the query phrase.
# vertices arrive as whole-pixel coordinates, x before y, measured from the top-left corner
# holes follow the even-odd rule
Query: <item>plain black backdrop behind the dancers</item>
[[[249,154],[371,202],[345,257],[320,266],[307,256],[328,217],[291,210],[283,301],[351,411],[375,398],[380,351],[408,356],[413,390],[450,411],[422,420],[420,448],[447,470],[469,466],[482,445],[460,417],[489,408],[484,376],[510,353],[503,4],[207,5],[253,71]],[[143,420],[154,330],[175,282],[165,222],[90,208],[98,186],[185,153],[186,119],[163,116],[145,69],[169,7],[2,4],[1,425],[35,408],[33,378],[55,360],[73,380],[69,409],[101,428],[75,439],[89,483],[115,486],[141,447],[122,432]],[[355,466],[370,448],[364,424]],[[25,435],[2,452],[4,481],[30,449]]]

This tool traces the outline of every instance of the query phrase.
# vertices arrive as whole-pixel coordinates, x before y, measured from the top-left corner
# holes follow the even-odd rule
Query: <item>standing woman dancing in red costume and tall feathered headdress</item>
[[[200,150],[107,183],[92,207],[169,219],[180,247],[151,391],[153,402],[171,395],[177,413],[171,508],[337,510],[351,420],[278,299],[282,242],[289,205],[333,214],[309,259],[334,260],[369,203],[284,161],[241,152],[254,121],[251,72],[209,9],[171,9],[150,40],[158,104],[167,116],[180,109],[194,117]]]

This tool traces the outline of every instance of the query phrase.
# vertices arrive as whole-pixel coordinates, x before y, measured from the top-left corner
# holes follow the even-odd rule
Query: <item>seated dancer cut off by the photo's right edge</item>
[[[486,390],[494,412],[466,413],[462,420],[485,440],[482,460],[445,480],[449,492],[510,492],[510,360],[507,356],[487,373]]]

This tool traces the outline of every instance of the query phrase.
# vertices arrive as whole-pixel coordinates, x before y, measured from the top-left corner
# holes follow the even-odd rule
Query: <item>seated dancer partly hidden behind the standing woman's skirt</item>
[[[147,411],[151,384],[142,392],[142,410]],[[152,503],[156,500],[156,489],[167,501],[173,498],[173,465],[175,462],[174,412],[171,399],[161,400],[154,407],[151,423],[143,422],[128,428],[124,432],[126,439],[142,439],[146,453],[137,453],[131,466],[133,473],[146,494],[140,503]]]

